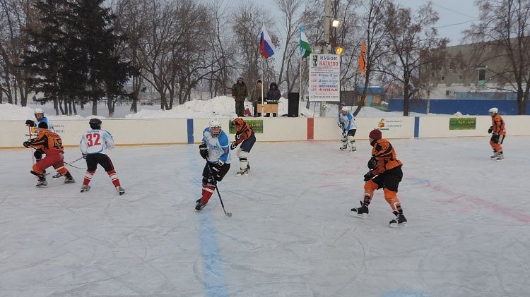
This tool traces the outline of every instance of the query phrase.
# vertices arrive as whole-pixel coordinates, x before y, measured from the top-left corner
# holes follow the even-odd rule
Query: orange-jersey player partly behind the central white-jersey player
[[[248,176],[250,165],[248,161],[248,154],[254,143],[256,143],[256,135],[250,128],[249,124],[241,119],[237,114],[232,115],[232,123],[235,126],[235,141],[230,145],[230,150],[235,150],[237,145],[241,144],[237,150],[237,157],[240,159],[240,171],[237,171],[237,176]]]

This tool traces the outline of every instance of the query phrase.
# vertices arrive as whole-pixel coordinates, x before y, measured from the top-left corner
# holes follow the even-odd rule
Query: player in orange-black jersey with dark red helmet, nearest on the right
[[[374,191],[383,188],[384,199],[387,200],[392,213],[396,216],[389,224],[396,228],[407,222],[401,209],[401,202],[397,198],[399,182],[403,178],[403,171],[401,171],[403,163],[396,158],[396,151],[389,141],[382,138],[381,131],[372,130],[369,138],[373,148],[372,158],[368,161],[370,171],[364,176],[366,182],[365,198],[364,201],[360,201],[360,207],[351,209],[351,214],[355,217],[366,218],[368,205],[374,197]]]

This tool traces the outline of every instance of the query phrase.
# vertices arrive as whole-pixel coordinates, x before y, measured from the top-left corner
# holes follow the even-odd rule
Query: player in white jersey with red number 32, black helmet
[[[114,139],[112,139],[110,133],[101,129],[100,119],[90,119],[88,123],[90,124],[91,130],[83,133],[81,142],[79,143],[79,148],[81,149],[83,158],[86,159],[87,166],[83,186],[81,186],[81,193],[90,190],[88,183],[92,180],[95,170],[98,168],[98,164],[100,164],[107,171],[119,195],[123,195],[125,190],[119,184],[119,178],[114,170],[112,161],[105,154],[106,149],[112,150],[114,148]]]

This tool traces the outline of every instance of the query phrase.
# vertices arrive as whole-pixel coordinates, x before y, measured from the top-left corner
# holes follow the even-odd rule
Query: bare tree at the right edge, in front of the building
[[[526,114],[530,93],[530,1],[478,0],[476,4],[479,21],[464,31],[466,39],[477,43],[479,63],[505,59],[505,67],[495,70],[494,78],[517,92],[518,113]]]

